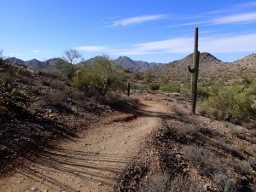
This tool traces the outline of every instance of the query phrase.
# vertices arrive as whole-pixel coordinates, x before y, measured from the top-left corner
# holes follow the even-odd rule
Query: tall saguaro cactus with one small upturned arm
[[[195,48],[193,55],[193,68],[188,65],[189,72],[191,73],[191,112],[195,113],[196,97],[197,97],[197,78],[199,68],[199,56],[198,51],[198,27],[195,27]]]

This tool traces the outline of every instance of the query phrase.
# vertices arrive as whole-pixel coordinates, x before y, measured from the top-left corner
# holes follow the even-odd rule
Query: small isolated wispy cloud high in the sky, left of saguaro
[[[141,15],[136,17],[129,17],[122,20],[114,20],[113,24],[108,27],[116,27],[116,26],[131,26],[134,24],[140,24],[153,20],[164,20],[168,17],[168,15]]]

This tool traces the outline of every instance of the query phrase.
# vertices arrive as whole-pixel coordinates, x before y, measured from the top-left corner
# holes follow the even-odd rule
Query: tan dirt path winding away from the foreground
[[[143,105],[137,119],[121,121],[127,114],[102,119],[79,138],[32,154],[25,166],[0,181],[0,191],[111,191],[114,178],[167,112],[156,102]]]

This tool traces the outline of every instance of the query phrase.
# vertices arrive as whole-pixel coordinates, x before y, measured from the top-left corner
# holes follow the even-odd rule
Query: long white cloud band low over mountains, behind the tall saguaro
[[[199,39],[201,52],[238,53],[256,51],[256,33],[202,35]],[[239,46],[238,46],[239,45]],[[104,46],[80,46],[80,50],[108,55],[161,55],[189,54],[193,51],[194,37],[167,38],[140,44],[131,44],[120,49]],[[84,49],[83,49],[84,48]]]

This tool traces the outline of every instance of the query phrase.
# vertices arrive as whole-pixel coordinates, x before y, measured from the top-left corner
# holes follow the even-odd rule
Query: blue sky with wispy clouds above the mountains
[[[0,49],[44,61],[79,49],[84,59],[120,55],[169,62],[199,49],[222,61],[256,52],[256,1],[1,0]]]

